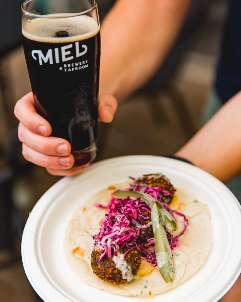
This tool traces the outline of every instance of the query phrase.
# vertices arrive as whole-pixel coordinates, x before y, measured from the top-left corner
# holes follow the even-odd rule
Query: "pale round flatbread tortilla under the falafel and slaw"
[[[95,207],[94,204],[108,205],[112,192],[128,187],[128,182],[110,186],[79,207],[67,224],[64,236],[66,260],[77,278],[95,288],[124,296],[160,294],[186,281],[204,264],[211,250],[211,215],[207,205],[198,202],[182,189],[177,189],[171,206],[186,215],[189,226],[180,236],[178,247],[172,250],[176,270],[174,281],[165,283],[158,268],[142,260],[133,280],[118,285],[108,283],[93,274],[90,266],[94,246],[92,236],[99,233],[100,222],[107,212],[107,209]]]

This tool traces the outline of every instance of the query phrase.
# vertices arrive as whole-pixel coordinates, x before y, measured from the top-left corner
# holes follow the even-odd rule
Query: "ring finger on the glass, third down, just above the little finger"
[[[70,169],[74,165],[74,156],[49,156],[39,153],[23,144],[23,157],[35,165],[52,169]]]

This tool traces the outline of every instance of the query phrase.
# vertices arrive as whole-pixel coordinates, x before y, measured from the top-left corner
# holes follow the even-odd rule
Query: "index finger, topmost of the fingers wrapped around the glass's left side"
[[[14,108],[14,114],[17,119],[32,132],[49,136],[52,128],[47,120],[37,114],[34,107],[33,93],[30,92],[24,95]]]

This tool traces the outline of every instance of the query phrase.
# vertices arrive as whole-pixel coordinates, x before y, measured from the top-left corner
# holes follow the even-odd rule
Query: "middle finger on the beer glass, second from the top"
[[[23,144],[45,155],[67,156],[71,152],[71,146],[67,140],[51,136],[43,137],[28,130],[22,123],[18,126],[18,138]]]

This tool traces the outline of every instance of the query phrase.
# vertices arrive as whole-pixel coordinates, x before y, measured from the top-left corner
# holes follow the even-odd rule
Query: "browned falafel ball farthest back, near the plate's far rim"
[[[171,195],[167,196],[164,196],[163,194],[159,193],[162,201],[166,204],[170,204],[173,199],[173,195],[176,192],[176,189],[171,184],[170,180],[165,175],[162,175],[160,173],[142,175],[141,177],[137,178],[134,183],[136,185],[158,187],[162,190],[169,191]]]

